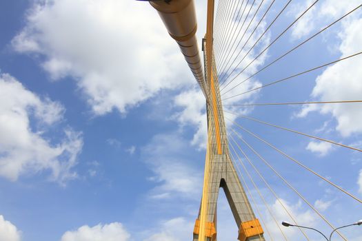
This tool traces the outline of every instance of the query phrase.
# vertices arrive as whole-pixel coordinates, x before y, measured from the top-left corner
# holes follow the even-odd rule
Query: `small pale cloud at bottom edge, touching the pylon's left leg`
[[[173,218],[164,222],[159,230],[161,232],[154,233],[150,238],[144,241],[183,241],[188,240],[192,236],[194,223],[188,222],[185,218]]]

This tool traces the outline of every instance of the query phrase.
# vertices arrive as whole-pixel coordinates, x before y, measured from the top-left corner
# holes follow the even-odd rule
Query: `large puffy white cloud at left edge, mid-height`
[[[65,138],[51,144],[43,137],[49,125],[61,121],[64,109],[50,99],[41,99],[8,74],[0,75],[0,176],[19,176],[44,170],[52,180],[74,178],[72,167],[82,149],[81,135],[64,129]]]

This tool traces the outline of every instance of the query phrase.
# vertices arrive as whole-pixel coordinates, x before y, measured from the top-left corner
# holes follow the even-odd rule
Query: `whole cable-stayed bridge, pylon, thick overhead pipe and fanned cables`
[[[276,58],[263,63],[261,67],[254,70],[254,63],[267,54],[268,50],[278,42],[283,35],[290,31],[300,19],[309,14],[319,0],[310,1],[308,8],[302,9],[299,16],[288,23],[276,36],[273,36],[267,44],[261,45],[268,36],[268,31],[273,25],[278,24],[281,14],[285,14],[290,7],[292,0],[283,2],[282,5],[276,4],[276,0],[220,0],[215,6],[214,0],[208,0],[207,8],[207,26],[204,39],[202,39],[203,58],[200,56],[199,45],[197,43],[197,19],[194,8],[194,1],[192,0],[159,0],[150,1],[152,7],[158,12],[168,29],[172,39],[177,41],[181,53],[185,56],[190,70],[196,78],[201,90],[205,96],[205,103],[207,109],[208,121],[208,144],[205,156],[205,173],[203,180],[203,193],[201,205],[197,217],[195,217],[193,240],[217,240],[217,199],[219,196],[220,188],[225,192],[228,199],[230,209],[232,210],[233,218],[239,229],[239,233],[235,234],[238,240],[276,240],[273,234],[276,231],[281,233],[283,240],[293,240],[293,237],[288,237],[280,227],[281,220],[277,220],[274,216],[272,208],[265,200],[263,191],[254,181],[250,175],[250,169],[254,171],[261,182],[268,189],[270,196],[274,197],[279,205],[283,208],[285,214],[289,217],[290,221],[298,225],[299,220],[293,216],[290,211],[279,197],[277,191],[274,190],[270,181],[267,180],[261,170],[254,165],[249,154],[252,152],[265,168],[270,169],[276,178],[285,185],[285,189],[290,189],[295,193],[305,205],[307,205],[312,212],[319,216],[331,230],[336,229],[334,222],[328,220],[323,216],[323,213],[316,209],[312,202],[305,198],[303,192],[292,185],[287,178],[276,169],[273,163],[268,160],[268,156],[262,156],[257,149],[253,147],[248,138],[254,138],[265,144],[265,148],[270,148],[276,151],[284,158],[290,160],[294,165],[298,166],[301,171],[307,171],[311,176],[318,178],[321,182],[332,189],[343,193],[346,197],[354,200],[354,202],[362,204],[362,200],[356,196],[356,193],[343,189],[339,183],[332,181],[332,178],[323,176],[319,171],[315,171],[308,165],[305,165],[302,160],[297,160],[292,155],[287,154],[276,145],[270,143],[269,140],[254,133],[254,131],[246,128],[241,123],[235,120],[235,117],[245,119],[245,121],[252,121],[259,125],[265,125],[271,128],[279,129],[283,132],[291,132],[292,134],[305,136],[313,140],[319,140],[323,143],[336,145],[349,149],[349,151],[356,151],[360,153],[362,150],[358,147],[345,145],[328,138],[321,136],[314,136],[310,133],[304,133],[297,129],[290,129],[268,123],[252,116],[242,115],[237,112],[230,112],[224,110],[224,107],[278,107],[290,105],[354,105],[362,103],[362,100],[333,100],[330,101],[299,101],[299,102],[276,102],[276,103],[245,103],[243,96],[248,96],[252,92],[261,92],[263,88],[272,85],[280,85],[282,83],[293,81],[294,78],[307,75],[317,70],[322,70],[325,67],[334,65],[335,63],[344,61],[353,61],[355,58],[361,58],[362,48],[359,52],[351,53],[347,56],[321,63],[314,67],[305,70],[299,70],[294,74],[282,76],[272,81],[255,85],[243,89],[243,85],[252,80],[254,76],[265,72],[268,68],[275,63],[288,58],[295,50],[301,48],[305,43],[312,41],[317,36],[327,32],[333,25],[340,23],[343,19],[347,19],[352,14],[361,11],[362,4],[354,6],[345,14],[337,17],[324,28],[313,32],[305,39],[285,52],[278,53]],[[268,23],[265,19],[272,19]],[[202,61],[203,60],[203,61]],[[252,69],[250,74],[250,69]],[[242,91],[240,91],[242,90]],[[239,99],[240,103],[231,103],[228,100]],[[226,128],[225,120],[230,123],[228,130]],[[248,151],[247,151],[248,150]],[[240,164],[240,165],[238,165]],[[296,174],[298,175],[298,174]],[[246,180],[250,180],[248,185]],[[256,190],[253,193],[251,190]],[[272,222],[274,222],[274,231],[268,229],[265,224],[266,220],[263,213],[259,210],[256,199],[260,198],[261,202],[268,211]],[[190,231],[191,232],[191,231]],[[305,240],[310,240],[308,233],[299,228],[300,235]],[[336,230],[336,235],[339,235],[341,240],[347,240],[343,233]]]

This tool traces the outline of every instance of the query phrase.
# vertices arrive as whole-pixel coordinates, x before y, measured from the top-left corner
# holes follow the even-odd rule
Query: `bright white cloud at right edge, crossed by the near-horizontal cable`
[[[331,10],[332,11],[332,10]],[[339,32],[341,44],[339,51],[342,57],[360,52],[362,41],[362,19],[348,19],[343,22],[343,30]],[[321,101],[359,100],[362,92],[362,58],[356,56],[353,59],[342,61],[328,67],[316,78],[316,85],[312,91],[312,97]],[[344,137],[351,134],[362,133],[362,105],[333,104],[333,105],[309,105],[304,107],[299,116],[307,116],[309,112],[319,111],[321,114],[332,114],[338,125],[336,130]]]

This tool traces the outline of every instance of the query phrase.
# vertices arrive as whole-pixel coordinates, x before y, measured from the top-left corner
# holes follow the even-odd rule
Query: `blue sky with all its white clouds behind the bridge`
[[[261,12],[269,3],[265,1]],[[285,3],[276,1],[257,34]],[[292,1],[243,65],[311,3]],[[239,81],[359,4],[319,1]],[[206,1],[197,1],[196,7],[201,39]],[[0,29],[0,241],[190,239],[205,161],[205,100],[157,12],[138,1],[1,1]],[[357,10],[229,96],[361,52],[361,29]],[[225,103],[361,99],[361,64],[356,56]],[[225,106],[360,149],[361,107]],[[361,152],[233,119],[361,198]],[[334,225],[362,218],[359,202],[232,123],[228,127],[230,133],[231,128],[240,132]],[[301,198],[242,147],[300,224],[330,232]],[[288,220],[248,168],[277,220]],[[274,239],[281,239],[247,182]],[[237,227],[222,191],[218,212],[219,239],[236,240]],[[300,233],[283,230],[299,240],[295,237]],[[344,234],[360,240],[362,230],[352,227]],[[310,237],[319,240],[312,233]]]

